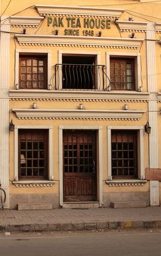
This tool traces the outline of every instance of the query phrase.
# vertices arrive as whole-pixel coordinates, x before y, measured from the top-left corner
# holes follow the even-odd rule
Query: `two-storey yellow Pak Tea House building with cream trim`
[[[7,2],[5,208],[159,205],[161,1]]]

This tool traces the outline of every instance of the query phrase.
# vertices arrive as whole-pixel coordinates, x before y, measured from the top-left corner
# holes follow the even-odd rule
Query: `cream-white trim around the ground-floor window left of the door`
[[[46,129],[48,130],[48,180],[53,176],[53,126],[15,126],[14,127],[14,180],[18,181],[18,130]],[[25,183],[25,180],[23,181]],[[33,181],[31,181],[32,183]],[[39,181],[38,181],[39,183]]]

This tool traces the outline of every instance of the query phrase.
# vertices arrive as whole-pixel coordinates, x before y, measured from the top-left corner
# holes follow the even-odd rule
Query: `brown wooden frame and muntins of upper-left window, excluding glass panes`
[[[41,66],[33,66],[33,59],[36,59],[37,61],[43,61],[44,62],[44,64],[43,64],[43,72],[42,73],[40,73],[40,72],[35,72],[35,73],[33,73],[33,71],[31,72],[31,73],[29,73],[31,76],[32,76],[32,79],[31,79],[31,86],[30,87],[27,87],[27,78],[26,78],[26,80],[24,81],[25,83],[26,83],[26,86],[22,86],[21,85],[21,82],[23,82],[22,80],[21,80],[21,75],[23,75],[23,73],[21,72],[21,68],[25,68],[26,69],[26,73],[24,73],[26,76],[27,76],[27,68],[29,68],[29,67],[27,67],[27,66],[21,66],[20,65],[20,62],[21,61],[27,61],[27,59],[31,59],[31,66],[29,66],[29,67],[31,67],[31,70],[33,70],[33,68],[35,67],[35,68],[37,68],[37,70],[39,69],[39,68],[42,68]],[[38,55],[38,54],[36,54],[36,55],[27,55],[27,54],[20,54],[19,55],[19,88],[20,89],[47,89],[47,69],[48,69],[48,65],[47,65],[47,55]],[[29,75],[28,74],[28,75]],[[34,75],[37,75],[37,76],[40,76],[40,75],[42,75],[43,74],[43,77],[44,77],[44,79],[43,79],[43,82],[44,82],[44,86],[43,87],[40,87],[39,85],[37,86],[37,87],[34,87],[33,86],[33,83],[34,83],[34,80],[33,80],[33,76]],[[37,81],[35,81],[35,82],[37,82],[38,84],[41,82],[42,80],[40,80],[40,79],[38,79]]]

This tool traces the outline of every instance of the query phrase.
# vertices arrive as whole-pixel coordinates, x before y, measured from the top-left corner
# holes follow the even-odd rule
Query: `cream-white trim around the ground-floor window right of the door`
[[[108,151],[107,151],[107,179],[112,180],[111,170],[111,130],[138,130],[138,179],[143,180],[145,177],[144,170],[144,143],[143,134],[144,126],[107,126],[107,140],[108,140]]]

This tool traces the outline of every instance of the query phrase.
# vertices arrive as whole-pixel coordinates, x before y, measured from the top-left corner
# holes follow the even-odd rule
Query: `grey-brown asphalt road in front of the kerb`
[[[161,230],[0,234],[0,256],[160,256]]]

